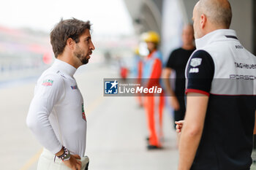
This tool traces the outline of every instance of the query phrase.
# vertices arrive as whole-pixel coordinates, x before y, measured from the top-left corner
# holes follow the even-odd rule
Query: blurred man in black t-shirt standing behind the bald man
[[[184,120],[186,112],[184,93],[185,93],[185,68],[190,55],[195,50],[194,30],[192,25],[184,26],[182,32],[182,47],[173,50],[167,61],[163,72],[165,90],[170,95],[170,106],[174,109],[174,120]],[[175,90],[171,87],[170,74],[176,72]],[[175,127],[175,123],[174,123]]]

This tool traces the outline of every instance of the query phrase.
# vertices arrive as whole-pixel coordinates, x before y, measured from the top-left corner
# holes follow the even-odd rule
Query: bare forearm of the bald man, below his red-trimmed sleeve
[[[185,123],[179,142],[178,170],[189,170],[203,133],[208,96],[188,93]]]

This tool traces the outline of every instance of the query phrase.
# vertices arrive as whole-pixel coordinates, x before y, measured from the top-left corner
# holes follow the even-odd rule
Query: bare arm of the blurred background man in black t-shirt
[[[163,70],[162,78],[164,79],[165,89],[167,90],[167,93],[170,95],[170,106],[172,106],[173,109],[178,110],[179,109],[178,99],[176,98],[176,95],[170,84],[170,74],[172,72],[173,72],[173,69],[166,67]]]

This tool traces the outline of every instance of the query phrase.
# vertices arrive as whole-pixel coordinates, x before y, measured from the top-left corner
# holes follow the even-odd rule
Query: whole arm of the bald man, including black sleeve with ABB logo
[[[190,72],[197,68],[197,72]],[[214,61],[204,50],[195,52],[187,64],[187,112],[179,142],[178,169],[190,169],[203,134],[211,82],[214,78]]]

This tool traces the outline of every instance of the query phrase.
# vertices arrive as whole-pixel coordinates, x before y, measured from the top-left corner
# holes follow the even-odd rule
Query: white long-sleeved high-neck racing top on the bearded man
[[[56,59],[39,77],[29,107],[27,125],[53,154],[67,147],[71,154],[84,156],[86,115],[83,96],[73,75],[75,67]]]

